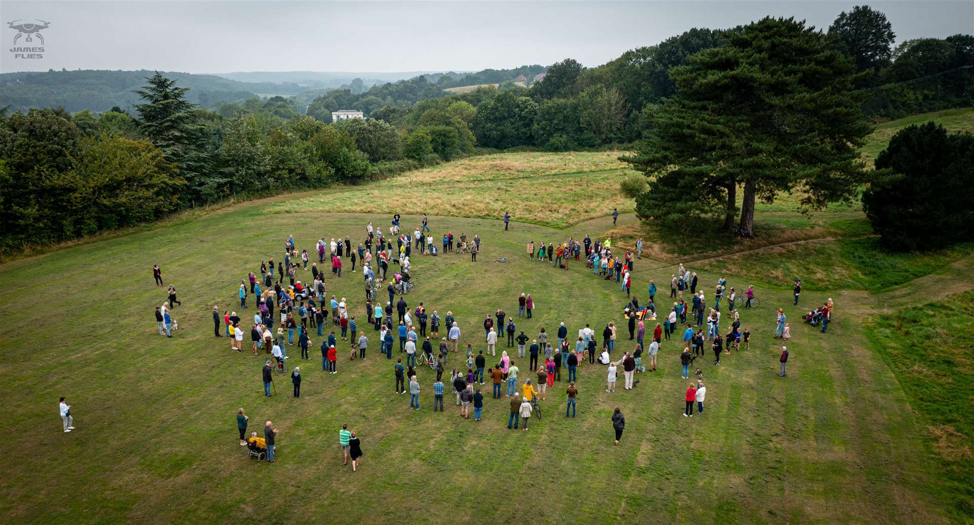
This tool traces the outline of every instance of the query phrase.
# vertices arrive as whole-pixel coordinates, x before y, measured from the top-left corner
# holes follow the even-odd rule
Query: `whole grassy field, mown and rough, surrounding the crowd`
[[[824,212],[819,226],[763,210],[759,224],[768,234],[761,240],[715,247],[685,231],[686,242],[674,242],[670,232],[638,225],[632,213],[616,226],[607,217],[614,206],[632,209],[618,195],[616,156],[477,157],[371,186],[239,204],[4,263],[0,418],[13,432],[0,466],[0,513],[12,523],[972,519],[969,387],[950,392],[944,380],[962,368],[966,375],[956,384],[969,382],[964,320],[971,297],[952,294],[971,288],[962,279],[974,269],[970,250],[882,254],[871,239],[857,238],[868,232],[854,209]],[[450,193],[454,188],[463,190]],[[515,220],[509,231],[499,221],[507,207]],[[677,257],[699,273],[705,291],[722,275],[731,286],[756,284],[762,305],[741,315],[751,348],[725,356],[720,367],[712,358],[696,361],[708,395],[705,413],[693,419],[681,415],[687,381],[677,342],[663,344],[659,371],[637,375],[631,392],[619,384],[606,393],[605,368],[581,367],[578,417],[564,417],[566,385],[556,383],[529,432],[506,429],[506,398],[488,395],[481,422],[461,419],[449,396],[447,413],[432,413],[429,369],[419,370],[423,409],[408,409],[408,397],[393,394],[392,362],[378,356],[371,329],[368,359],[350,361],[342,351],[336,375],[320,371],[319,337],[312,337],[311,361],[289,347],[288,364],[303,371],[303,396],[291,398],[289,382],[280,381],[279,395],[264,398],[265,356],[238,354],[225,337],[214,337],[212,306],[252,316],[252,299],[251,308],[238,307],[237,285],[261,260],[281,259],[288,234],[309,250],[321,236],[349,235],[357,243],[367,222],[385,229],[394,211],[407,214],[405,227],[428,211],[434,234],[483,239],[478,262],[415,256],[417,288],[407,297],[411,306],[452,310],[477,350],[484,348],[484,316],[498,308],[516,312],[522,292],[537,301],[534,318],[518,320],[532,337],[541,328],[553,333],[560,322],[569,333],[585,323],[601,333],[614,322],[615,355],[631,349],[621,315],[626,297],[615,281],[581,263],[566,271],[527,260],[529,240],[586,233],[611,234],[623,245],[639,234],[652,241],[644,255],[653,259],[637,261],[633,277],[644,303],[651,279],[660,288],[657,305],[668,302],[665,283]],[[827,235],[841,238],[821,238]],[[795,246],[814,249],[798,254],[762,247],[811,238]],[[156,333],[153,309],[166,297],[152,281],[154,263],[182,301],[171,339]],[[823,278],[816,268],[843,273]],[[795,276],[809,282],[799,306],[789,287]],[[326,281],[328,295],[349,297],[360,326],[361,283],[348,267]],[[822,334],[800,316],[826,297],[837,299],[838,313]],[[916,309],[930,299],[942,302]],[[793,336],[787,378],[775,375],[780,343],[771,333],[779,306]],[[948,324],[928,321],[945,311]],[[894,321],[895,330],[922,328],[908,337],[890,332]],[[924,355],[936,359],[946,350],[953,361],[915,374],[909,349],[931,333],[938,338]],[[522,380],[531,375],[521,368]],[[940,399],[927,398],[931,392],[953,396],[951,404],[925,401]],[[60,430],[59,396],[73,405],[78,430],[71,434]],[[278,463],[246,459],[234,418],[241,406],[251,430],[269,419],[281,430]],[[617,406],[626,430],[614,446],[610,416]],[[357,473],[342,466],[343,423],[362,439]]]

